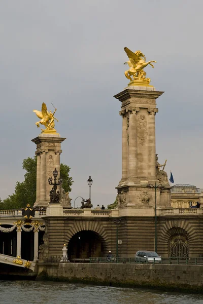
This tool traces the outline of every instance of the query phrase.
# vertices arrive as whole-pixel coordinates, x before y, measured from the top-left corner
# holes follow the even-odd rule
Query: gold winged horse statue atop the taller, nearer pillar
[[[141,51],[136,51],[135,53],[133,53],[128,48],[124,48],[124,51],[129,58],[129,61],[124,62],[124,64],[128,64],[129,66],[129,69],[125,71],[125,77],[129,79],[131,82],[138,81],[149,85],[151,80],[150,78],[146,78],[146,72],[143,69],[148,64],[154,68],[151,62],[156,62],[156,61],[151,60],[146,62],[146,57]],[[133,80],[131,77],[133,78]]]

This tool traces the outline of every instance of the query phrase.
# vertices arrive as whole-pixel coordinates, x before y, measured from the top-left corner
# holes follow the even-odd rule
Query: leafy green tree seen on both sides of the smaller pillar
[[[23,182],[16,182],[15,193],[9,195],[1,204],[4,209],[23,208],[26,204],[33,206],[36,201],[37,157],[24,159],[22,168],[26,171],[25,179]],[[62,187],[65,192],[71,192],[74,182],[69,176],[70,169],[69,166],[60,164],[60,178],[63,179]]]

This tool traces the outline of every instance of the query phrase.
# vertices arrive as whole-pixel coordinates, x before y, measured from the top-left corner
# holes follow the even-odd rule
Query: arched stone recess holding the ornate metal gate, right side
[[[188,233],[180,228],[171,229],[171,238],[168,241],[168,256],[174,258],[189,258]]]

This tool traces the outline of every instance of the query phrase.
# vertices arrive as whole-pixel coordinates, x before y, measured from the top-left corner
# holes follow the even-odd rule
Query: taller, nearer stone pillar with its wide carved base
[[[114,96],[121,101],[123,119],[122,178],[116,187],[120,208],[154,208],[155,194],[147,184],[160,183],[156,176],[155,115],[156,99],[162,94],[152,86],[130,86]],[[168,186],[161,193],[157,189],[157,207],[168,206]]]

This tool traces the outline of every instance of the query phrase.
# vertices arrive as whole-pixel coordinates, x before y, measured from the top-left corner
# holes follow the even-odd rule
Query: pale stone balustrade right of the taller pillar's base
[[[202,208],[167,208],[157,209],[157,215],[203,215]]]

